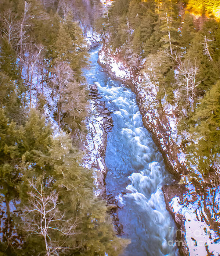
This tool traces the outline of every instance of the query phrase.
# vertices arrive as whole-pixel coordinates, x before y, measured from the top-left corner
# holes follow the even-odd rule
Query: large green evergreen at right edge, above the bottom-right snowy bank
[[[220,153],[220,81],[201,100],[191,122],[188,161],[205,174]]]

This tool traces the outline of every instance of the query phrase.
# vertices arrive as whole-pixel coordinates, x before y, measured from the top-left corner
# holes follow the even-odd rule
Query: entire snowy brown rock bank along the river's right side
[[[170,242],[177,243],[181,255],[220,255],[219,180],[212,186],[205,180],[199,183],[196,179],[187,180],[186,185],[178,184],[186,167],[177,135],[174,107],[163,101],[162,107],[158,107],[155,88],[147,75],[135,74],[105,47],[100,51],[99,63],[113,78],[128,84],[136,93],[144,125],[161,150],[167,169],[176,177],[175,184],[163,188],[167,210],[178,227],[178,234],[173,235],[177,235],[177,239]],[[207,179],[216,180],[212,177]]]

